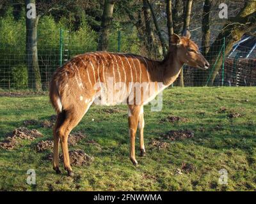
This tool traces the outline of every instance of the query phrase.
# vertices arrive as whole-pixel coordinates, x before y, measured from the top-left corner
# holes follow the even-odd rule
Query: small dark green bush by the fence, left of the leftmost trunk
[[[28,69],[26,65],[19,65],[12,68],[12,88],[28,88]]]

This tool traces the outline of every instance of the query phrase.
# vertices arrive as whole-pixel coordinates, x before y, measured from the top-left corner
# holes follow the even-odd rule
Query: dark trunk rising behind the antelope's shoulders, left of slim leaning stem
[[[143,0],[143,13],[145,20],[145,35],[146,35],[146,48],[148,51],[149,57],[156,56],[157,50],[155,48],[155,36],[152,28],[151,22],[151,12],[148,6],[147,0]]]

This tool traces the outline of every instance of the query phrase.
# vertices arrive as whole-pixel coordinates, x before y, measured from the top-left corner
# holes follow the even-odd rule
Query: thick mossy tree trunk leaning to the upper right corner
[[[218,35],[214,43],[212,43],[209,52],[206,55],[207,61],[211,65],[216,61],[216,55],[219,54],[222,46],[223,38],[225,37],[225,55],[227,55],[237,41],[241,40],[241,37],[244,33],[250,31],[251,29],[256,27],[256,2],[249,1],[244,4],[242,10],[237,14],[236,17],[230,18],[230,22],[224,25],[223,29],[221,29],[221,33]],[[215,53],[216,55],[212,55]],[[212,71],[211,78],[209,80],[209,84],[212,85],[218,74],[218,71],[221,68],[222,63],[222,55],[220,56],[220,60],[216,63],[214,70]],[[211,69],[209,70],[209,74],[211,73]],[[209,76],[209,75],[208,75]],[[205,81],[207,79],[205,78]]]

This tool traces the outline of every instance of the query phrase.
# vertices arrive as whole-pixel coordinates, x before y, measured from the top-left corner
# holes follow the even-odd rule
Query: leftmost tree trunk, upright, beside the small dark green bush
[[[25,0],[26,12],[27,5],[34,3],[35,0]],[[36,15],[35,15],[36,16]],[[40,69],[37,55],[37,25],[38,17],[28,18],[26,16],[26,58],[28,66],[28,87],[40,91],[42,89]]]

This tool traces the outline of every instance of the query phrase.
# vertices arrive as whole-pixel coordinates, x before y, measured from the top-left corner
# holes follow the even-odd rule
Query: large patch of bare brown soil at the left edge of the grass
[[[8,133],[6,136],[7,138],[0,142],[0,147],[3,149],[14,149],[19,140],[35,140],[35,138],[42,137],[43,135],[36,129],[21,127],[13,130],[12,133]]]

